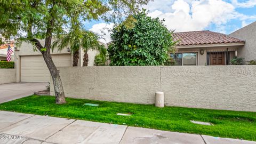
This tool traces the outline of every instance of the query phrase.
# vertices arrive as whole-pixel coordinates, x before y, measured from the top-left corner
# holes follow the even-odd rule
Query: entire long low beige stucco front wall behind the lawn
[[[58,69],[66,97],[152,104],[163,91],[167,106],[256,111],[256,66]]]

